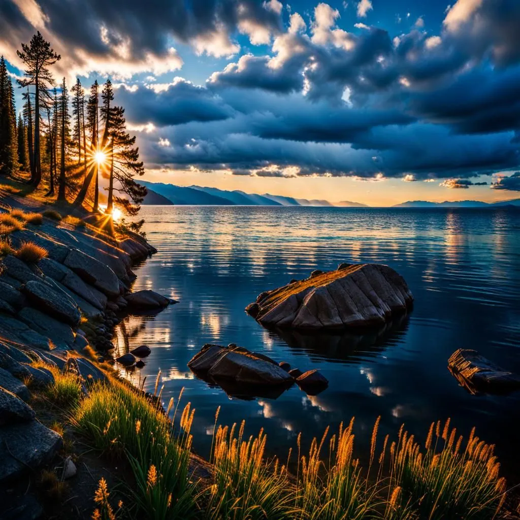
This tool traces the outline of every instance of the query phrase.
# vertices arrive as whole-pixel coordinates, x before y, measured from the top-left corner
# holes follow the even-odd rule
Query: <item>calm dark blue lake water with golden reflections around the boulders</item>
[[[298,432],[308,445],[327,425],[356,417],[356,449],[401,423],[424,439],[433,420],[497,443],[506,469],[517,468],[520,395],[474,396],[447,369],[457,348],[477,349],[520,372],[520,212],[511,210],[339,209],[309,207],[145,206],[140,217],[159,252],[136,269],[134,290],[179,300],[154,317],[130,317],[119,349],[147,344],[152,354],[134,379],[152,389],[162,371],[163,398],[196,408],[194,448],[209,455],[219,422],[263,427],[268,452],[285,457]],[[410,315],[382,336],[280,337],[244,307],[265,290],[340,262],[396,269],[415,297]],[[277,399],[229,398],[186,366],[204,343],[237,343],[305,371],[329,388],[315,397],[293,386]],[[515,471],[517,473],[517,471]]]

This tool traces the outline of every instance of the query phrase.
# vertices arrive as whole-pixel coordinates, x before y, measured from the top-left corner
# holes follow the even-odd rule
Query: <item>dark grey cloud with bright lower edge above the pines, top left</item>
[[[278,0],[265,5],[255,0],[3,0],[0,51],[9,63],[20,66],[16,49],[40,30],[62,55],[57,75],[162,74],[183,64],[172,38],[198,54],[236,54],[240,46],[232,35],[237,29],[253,43],[268,42],[281,31],[280,5]]]

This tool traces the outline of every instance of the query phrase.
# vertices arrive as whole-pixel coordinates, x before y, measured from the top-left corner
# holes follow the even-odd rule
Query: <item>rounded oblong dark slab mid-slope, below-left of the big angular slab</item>
[[[27,282],[23,287],[23,292],[35,307],[49,316],[73,327],[80,322],[80,309],[70,300],[68,294],[58,292],[49,285],[36,280]]]

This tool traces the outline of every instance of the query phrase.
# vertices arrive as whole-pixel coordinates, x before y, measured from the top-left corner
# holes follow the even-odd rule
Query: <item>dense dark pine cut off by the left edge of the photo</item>
[[[0,58],[0,173],[11,175],[18,166],[16,115],[12,83],[4,57]]]

